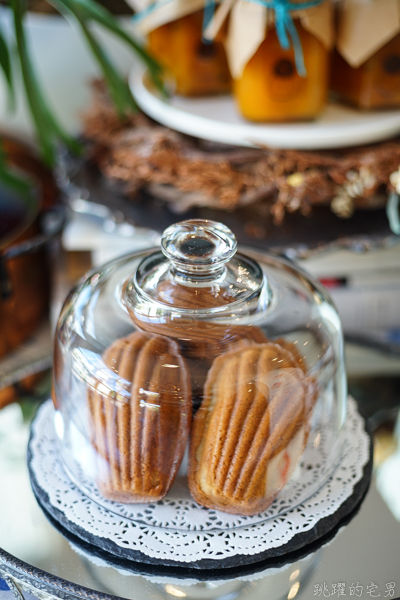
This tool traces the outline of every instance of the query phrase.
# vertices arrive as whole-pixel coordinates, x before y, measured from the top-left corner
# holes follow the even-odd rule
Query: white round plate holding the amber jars
[[[181,133],[238,146],[318,150],[378,142],[400,133],[400,110],[361,112],[329,104],[315,121],[259,125],[246,121],[232,96],[161,98],[131,71],[130,88],[139,107],[155,121]]]

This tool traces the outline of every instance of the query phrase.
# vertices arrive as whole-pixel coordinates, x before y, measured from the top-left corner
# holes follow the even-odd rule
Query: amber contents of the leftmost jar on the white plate
[[[182,96],[220,94],[231,89],[231,76],[221,41],[204,44],[203,11],[151,31],[148,49],[173,75]]]

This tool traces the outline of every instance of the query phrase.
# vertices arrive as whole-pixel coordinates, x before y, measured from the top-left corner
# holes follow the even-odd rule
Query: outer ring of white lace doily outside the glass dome
[[[54,409],[48,401],[34,421],[29,445],[31,476],[41,492],[47,494],[50,506],[62,514],[64,521],[87,533],[88,537],[109,540],[121,555],[137,552],[165,564],[173,561],[188,565],[204,559],[221,561],[237,555],[253,556],[287,544],[294,536],[311,530],[320,519],[338,510],[352,495],[369,459],[369,436],[355,401],[349,398],[340,462],[326,484],[311,498],[294,508],[293,503],[289,503],[285,514],[275,518],[271,514],[262,522],[254,523],[251,517],[241,517],[241,525],[235,528],[192,531],[187,527],[185,531],[151,524],[156,512],[157,523],[164,522],[171,527],[177,507],[179,512],[178,499],[143,504],[141,521],[133,521],[83,494],[71,482],[59,459],[53,417]],[[281,494],[276,502],[278,508],[281,508],[280,502]],[[112,508],[113,503],[109,504]],[[194,502],[193,505],[204,512],[205,522],[211,518],[209,513],[222,514],[201,508]],[[182,518],[188,523],[191,520],[191,511],[185,503]]]

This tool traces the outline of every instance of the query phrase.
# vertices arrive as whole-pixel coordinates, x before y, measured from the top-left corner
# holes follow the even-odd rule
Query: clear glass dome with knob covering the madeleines
[[[92,271],[65,301],[59,452],[73,482],[117,513],[183,496],[266,519],[282,490],[297,505],[338,464],[337,311],[294,264],[236,250],[220,223],[177,223],[161,249]]]

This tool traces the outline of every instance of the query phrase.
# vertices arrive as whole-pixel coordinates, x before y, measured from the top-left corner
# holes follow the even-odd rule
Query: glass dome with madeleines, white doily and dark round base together
[[[161,249],[129,254],[92,271],[67,299],[55,339],[56,410],[50,400],[41,407],[28,444],[34,494],[63,529],[124,561],[173,568],[181,576],[197,571],[200,579],[204,571],[224,578],[226,570],[231,576],[232,569],[285,562],[326,541],[356,510],[370,481],[370,436],[355,401],[349,398],[346,408],[336,310],[318,283],[291,263],[236,255],[236,240],[220,223],[175,224],[164,232]],[[292,334],[292,342],[279,337],[285,333]],[[123,361],[132,369],[125,376]],[[213,380],[215,371],[221,382]],[[210,381],[217,394],[212,406],[207,405]],[[226,390],[232,400],[226,400]],[[246,496],[251,490],[250,505],[245,496],[248,508],[235,505],[235,492],[227,512],[218,510],[218,502],[199,499],[190,480],[203,468],[193,471],[191,462],[193,456],[200,460],[194,444],[204,435],[196,427],[208,426],[218,406],[229,418],[214,422],[205,438],[222,440],[213,452],[221,456],[232,444],[243,447],[241,453],[229,451],[228,468],[234,465],[246,478],[250,473],[251,483],[258,484],[262,469],[255,491],[242,484]],[[121,422],[122,410],[128,422]],[[182,416],[171,421],[174,411]],[[203,415],[211,415],[208,422],[200,420]],[[154,464],[153,446],[158,447]],[[168,453],[175,469],[183,458],[180,470],[170,489],[150,495],[153,481],[170,477],[163,460]],[[111,456],[129,456],[125,488],[118,463],[107,462]],[[150,465],[137,476],[139,484],[131,479],[135,464],[140,473],[142,465]]]

